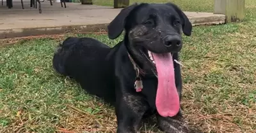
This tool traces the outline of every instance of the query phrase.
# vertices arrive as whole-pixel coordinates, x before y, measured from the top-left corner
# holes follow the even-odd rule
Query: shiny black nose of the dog
[[[179,36],[166,36],[166,38],[164,38],[164,46],[166,47],[170,47],[170,46],[175,46],[175,47],[179,47],[181,45],[181,39],[179,38]]]

